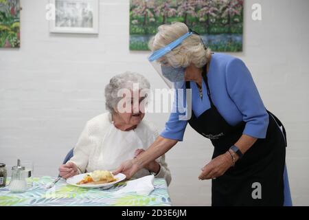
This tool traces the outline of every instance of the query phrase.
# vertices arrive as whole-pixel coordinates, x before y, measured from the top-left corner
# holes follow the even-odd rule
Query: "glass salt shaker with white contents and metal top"
[[[17,159],[17,166],[12,167],[12,177],[9,188],[11,192],[25,192],[25,190],[27,190],[25,166],[21,166],[20,159]]]

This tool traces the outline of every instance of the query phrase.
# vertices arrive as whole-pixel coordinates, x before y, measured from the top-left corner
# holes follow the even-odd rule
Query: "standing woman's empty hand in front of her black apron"
[[[211,159],[206,166],[202,168],[201,175],[198,176],[198,179],[214,179],[216,177],[222,176],[225,171],[227,171],[233,165],[231,160],[231,155],[229,152],[226,152],[222,155],[218,155],[214,159]]]

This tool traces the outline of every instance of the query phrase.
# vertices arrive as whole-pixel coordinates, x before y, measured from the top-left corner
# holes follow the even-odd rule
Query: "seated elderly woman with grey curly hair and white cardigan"
[[[138,86],[137,91],[134,85]],[[115,170],[124,160],[141,155],[155,141],[157,129],[143,120],[147,93],[142,91],[145,89],[150,89],[150,83],[140,74],[126,72],[111,78],[105,87],[108,112],[87,122],[73,157],[59,168],[61,177],[67,179],[94,170]],[[122,91],[123,96],[119,95]],[[134,94],[137,94],[135,100]],[[170,184],[170,170],[164,155],[145,164],[134,177],[150,174],[165,178]]]

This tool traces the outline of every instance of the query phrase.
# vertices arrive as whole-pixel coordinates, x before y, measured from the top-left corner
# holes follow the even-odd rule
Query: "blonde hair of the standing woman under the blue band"
[[[157,34],[150,39],[148,47],[152,52],[159,50],[188,31],[187,25],[181,22],[160,25]],[[173,67],[187,67],[193,63],[196,67],[201,68],[209,61],[210,55],[211,50],[205,50],[203,43],[201,43],[201,37],[192,34],[171,52],[165,54],[163,58]]]

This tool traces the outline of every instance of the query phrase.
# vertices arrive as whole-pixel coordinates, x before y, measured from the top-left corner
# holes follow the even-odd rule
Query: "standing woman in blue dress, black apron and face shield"
[[[182,120],[183,111],[172,112],[150,148],[115,173],[132,176],[182,141],[189,123],[214,145],[199,176],[212,179],[213,206],[282,206],[285,132],[265,109],[246,65],[239,58],[211,53],[184,23],[161,25],[149,45],[149,61],[161,67],[160,74],[184,94],[192,89],[192,104],[187,104],[192,109],[186,114],[192,116]]]

